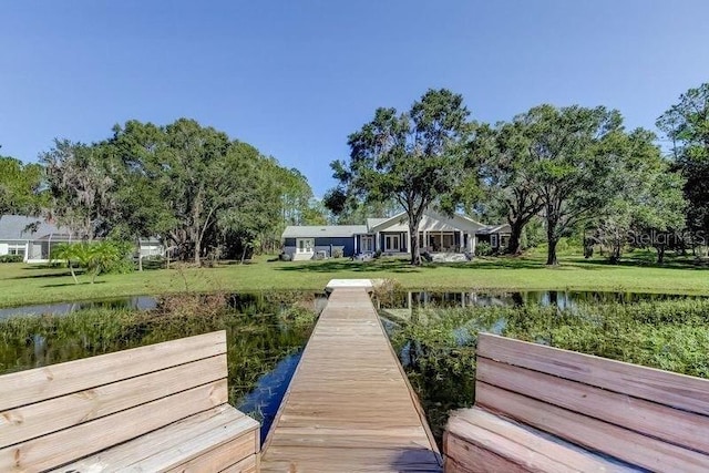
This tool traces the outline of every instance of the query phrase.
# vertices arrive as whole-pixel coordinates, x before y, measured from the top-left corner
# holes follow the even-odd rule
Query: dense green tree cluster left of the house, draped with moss
[[[286,225],[323,224],[306,177],[194,120],[116,125],[56,140],[38,164],[0,157],[0,215],[40,215],[82,240],[158,237],[171,253],[243,259],[280,247]]]

